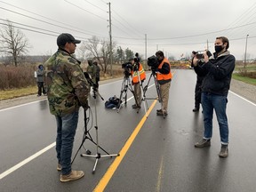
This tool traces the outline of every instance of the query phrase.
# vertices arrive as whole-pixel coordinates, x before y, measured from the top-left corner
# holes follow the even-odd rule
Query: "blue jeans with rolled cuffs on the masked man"
[[[215,95],[207,92],[202,92],[201,96],[204,113],[204,139],[210,140],[212,138],[212,116],[214,109],[220,127],[221,144],[228,145],[228,117],[226,114],[228,103],[227,96]]]

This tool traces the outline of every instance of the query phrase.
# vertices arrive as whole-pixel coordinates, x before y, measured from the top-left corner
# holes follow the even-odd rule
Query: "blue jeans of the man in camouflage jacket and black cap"
[[[78,123],[78,111],[65,116],[55,116],[57,121],[56,151],[62,175],[71,172],[71,156]]]

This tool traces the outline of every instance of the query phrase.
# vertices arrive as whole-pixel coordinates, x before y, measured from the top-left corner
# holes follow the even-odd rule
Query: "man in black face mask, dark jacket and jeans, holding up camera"
[[[228,52],[229,41],[225,36],[216,37],[214,59],[209,60],[204,53],[204,64],[199,65],[202,60],[194,57],[193,65],[196,74],[204,76],[202,83],[202,107],[204,113],[204,138],[196,142],[196,148],[211,146],[212,138],[212,116],[215,110],[220,127],[220,157],[228,157],[228,117],[226,108],[228,103],[228,90],[232,72],[235,68],[236,59]]]

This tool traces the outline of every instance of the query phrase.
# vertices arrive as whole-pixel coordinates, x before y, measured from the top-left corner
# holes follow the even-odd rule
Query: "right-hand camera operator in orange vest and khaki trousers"
[[[162,99],[162,108],[156,110],[156,115],[167,116],[169,90],[172,81],[171,64],[169,60],[164,57],[164,52],[162,51],[156,52],[156,58],[159,62],[159,66],[156,68],[156,80],[160,86],[160,94]]]

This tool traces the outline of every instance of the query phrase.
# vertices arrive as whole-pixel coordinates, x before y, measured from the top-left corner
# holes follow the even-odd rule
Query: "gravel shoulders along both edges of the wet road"
[[[118,78],[121,79],[121,78]],[[101,81],[100,84],[107,84],[111,81],[116,81],[116,79]],[[256,104],[256,86],[252,84],[245,84],[244,82],[232,79],[230,90],[236,92],[236,94],[244,97],[247,100],[251,100]],[[33,102],[37,100],[46,100],[46,96],[37,97],[35,95],[29,95],[25,97],[19,97],[12,100],[0,100],[0,109],[12,108],[18,105],[26,104],[28,102]]]

